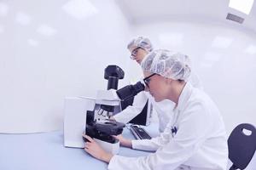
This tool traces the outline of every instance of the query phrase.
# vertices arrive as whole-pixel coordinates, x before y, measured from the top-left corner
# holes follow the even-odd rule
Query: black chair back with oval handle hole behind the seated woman
[[[250,134],[244,133],[244,129]],[[248,123],[238,125],[228,139],[229,158],[233,165],[230,170],[245,169],[256,150],[256,128]]]

